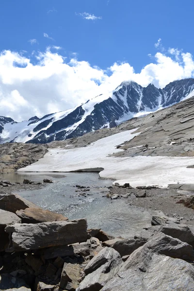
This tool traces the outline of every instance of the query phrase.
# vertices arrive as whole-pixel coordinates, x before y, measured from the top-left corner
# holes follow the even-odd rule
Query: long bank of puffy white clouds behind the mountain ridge
[[[142,86],[153,83],[164,87],[171,81],[194,77],[193,56],[157,52],[153,63],[136,73],[129,63],[114,63],[106,70],[79,61],[69,60],[49,48],[33,51],[32,60],[14,51],[0,52],[0,115],[16,121],[33,115],[66,110],[99,94],[111,96],[122,81],[136,81]],[[34,64],[34,58],[37,63]]]

